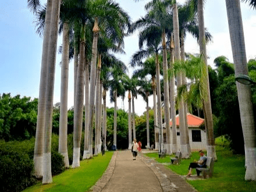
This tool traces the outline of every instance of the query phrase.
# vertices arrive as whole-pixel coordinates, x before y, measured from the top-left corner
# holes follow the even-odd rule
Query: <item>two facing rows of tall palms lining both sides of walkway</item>
[[[237,0],[238,1],[238,0]],[[95,116],[95,151],[98,154],[101,150],[101,124],[102,135],[106,136],[106,91],[110,88],[111,101],[115,102],[115,120],[114,120],[114,140],[113,145],[116,146],[116,101],[119,96],[125,97],[125,90],[129,90],[129,148],[131,147],[131,119],[133,119],[133,137],[136,138],[135,122],[134,122],[134,98],[136,94],[144,95],[147,102],[148,114],[148,95],[153,93],[154,98],[154,115],[155,115],[155,144],[163,147],[163,131],[158,136],[157,130],[162,130],[162,109],[161,109],[161,89],[160,89],[160,66],[159,52],[163,55],[163,84],[164,84],[164,105],[165,105],[165,122],[169,122],[170,116],[175,120],[175,74],[177,77],[178,90],[186,85],[186,76],[182,67],[175,70],[174,62],[182,63],[184,61],[184,38],[186,32],[192,33],[198,38],[200,44],[201,61],[204,64],[202,71],[205,70],[206,76],[202,76],[202,90],[205,90],[205,97],[200,98],[202,108],[204,110],[205,125],[207,129],[207,151],[209,157],[216,158],[214,147],[213,123],[211,114],[211,99],[209,98],[209,80],[207,72],[207,52],[206,40],[211,39],[211,35],[205,33],[203,19],[203,1],[190,0],[184,6],[177,6],[176,1],[157,1],[153,0],[146,5],[148,13],[145,17],[133,24],[131,30],[134,31],[143,28],[140,33],[140,48],[146,45],[146,49],[141,49],[134,54],[131,66],[143,66],[143,70],[147,69],[147,65],[154,66],[151,72],[152,89],[150,83],[142,81],[140,90],[136,91],[136,83],[134,78],[129,79],[125,75],[127,70],[124,63],[118,61],[115,56],[109,54],[112,52],[123,52],[123,38],[130,29],[130,18],[117,3],[111,0],[95,0],[95,1],[79,1],[79,0],[48,0],[47,6],[42,8],[39,1],[28,0],[33,10],[38,11],[38,23],[43,29],[44,44],[42,51],[42,67],[40,79],[40,96],[38,103],[38,120],[37,132],[34,150],[35,174],[42,176],[43,183],[51,183],[51,126],[52,126],[52,98],[54,91],[54,71],[56,57],[56,40],[58,33],[58,24],[63,30],[63,47],[62,47],[62,101],[61,101],[61,118],[60,118],[60,141],[59,152],[65,157],[65,165],[69,166],[66,148],[66,125],[67,125],[67,72],[68,72],[68,56],[74,58],[74,150],[72,167],[80,166],[80,141],[81,130],[83,125],[83,103],[86,107],[85,122],[85,141],[83,158],[90,158],[93,155],[93,118]],[[233,2],[230,5],[233,4]],[[238,1],[239,2],[239,1]],[[39,8],[39,9],[38,9]],[[40,9],[41,8],[41,9]],[[61,22],[59,22],[61,21]],[[197,24],[198,22],[198,24]],[[168,44],[166,44],[166,36]],[[174,42],[173,42],[174,39]],[[162,41],[162,45],[161,45]],[[181,42],[181,44],[180,44]],[[168,76],[168,62],[166,56],[166,47],[170,46],[170,76]],[[73,51],[70,51],[73,50]],[[69,55],[67,55],[69,54]],[[155,61],[141,62],[145,56],[155,55]],[[147,63],[148,62],[148,63]],[[150,64],[151,62],[151,64]],[[153,63],[153,64],[152,64]],[[143,70],[134,73],[134,76],[145,77]],[[89,76],[90,72],[90,76]],[[141,76],[141,73],[144,73]],[[193,75],[192,75],[193,76]],[[90,77],[90,83],[89,83]],[[196,79],[197,77],[191,77]],[[126,80],[125,80],[126,79]],[[197,79],[196,79],[197,80]],[[126,83],[122,83],[122,82]],[[155,83],[156,81],[156,83]],[[89,89],[90,84],[90,89]],[[84,87],[85,86],[85,87]],[[102,93],[103,87],[103,93]],[[186,86],[185,86],[186,87]],[[249,90],[248,87],[247,91]],[[237,88],[239,90],[239,88]],[[131,94],[130,94],[131,92]],[[250,94],[249,94],[250,95]],[[104,105],[102,108],[101,97]],[[84,101],[85,100],[85,101]],[[130,101],[133,103],[133,118],[131,118]],[[156,102],[157,101],[157,102]],[[186,122],[186,97],[179,97],[179,116],[180,116],[180,132],[181,132],[181,148],[184,157],[189,155],[189,137]],[[169,107],[170,105],[170,107]],[[95,115],[94,115],[95,107]],[[169,110],[170,109],[170,110]],[[103,118],[101,117],[103,111]],[[170,115],[171,114],[171,115]],[[101,123],[102,119],[102,123]],[[242,119],[242,118],[241,118]],[[62,122],[61,122],[62,121]],[[243,120],[242,120],[243,122]],[[252,124],[253,123],[253,124]],[[243,124],[243,123],[242,123]],[[251,122],[250,125],[254,125]],[[159,129],[158,129],[159,128]],[[243,127],[244,129],[244,127]],[[251,128],[245,128],[248,133]],[[149,146],[149,125],[147,122],[147,145]],[[167,151],[176,152],[176,123],[173,122],[172,134],[170,132],[169,123],[166,123]],[[172,137],[172,138],[171,138]],[[244,138],[247,138],[244,136]],[[255,133],[251,134],[250,143],[246,143],[247,166],[253,166],[255,159],[252,144],[255,141]],[[104,144],[105,145],[105,144]],[[248,146],[248,147],[247,147]],[[247,169],[248,170],[248,169]],[[250,172],[250,174],[249,174]],[[255,177],[250,170],[247,171],[246,179],[250,180]],[[255,179],[254,179],[255,180]]]

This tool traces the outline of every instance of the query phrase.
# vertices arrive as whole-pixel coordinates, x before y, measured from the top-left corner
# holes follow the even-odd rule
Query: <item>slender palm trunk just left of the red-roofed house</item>
[[[157,116],[158,116],[158,133],[159,133],[159,152],[163,150],[163,122],[162,122],[162,108],[161,108],[161,87],[160,87],[160,67],[158,61],[158,54],[156,53],[155,72],[157,77]]]

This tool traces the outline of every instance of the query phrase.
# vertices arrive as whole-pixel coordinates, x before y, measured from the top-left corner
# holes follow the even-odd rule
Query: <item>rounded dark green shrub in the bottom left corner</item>
[[[16,145],[0,141],[0,191],[21,191],[33,185],[33,159]]]

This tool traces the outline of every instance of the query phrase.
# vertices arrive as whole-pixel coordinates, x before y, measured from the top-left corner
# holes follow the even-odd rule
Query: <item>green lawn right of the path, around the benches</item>
[[[200,192],[203,191],[256,191],[256,182],[244,180],[246,169],[244,168],[244,155],[234,155],[229,148],[216,146],[218,161],[214,162],[214,176],[204,180],[187,180]],[[182,159],[180,165],[170,165],[170,157],[159,158],[158,154],[147,154],[161,163],[168,163],[166,166],[179,175],[187,175],[190,162],[198,160],[200,155],[193,152],[190,159]],[[192,174],[196,174],[193,170]]]

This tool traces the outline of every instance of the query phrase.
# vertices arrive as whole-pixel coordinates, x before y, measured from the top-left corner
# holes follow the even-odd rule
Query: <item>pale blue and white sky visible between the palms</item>
[[[45,2],[45,1],[42,1]],[[135,21],[144,16],[144,5],[146,0],[134,2],[133,0],[118,0],[120,6],[126,10],[131,19]],[[177,2],[183,3],[184,0]],[[251,9],[248,3],[241,3],[241,11],[244,24],[244,35],[246,40],[247,59],[256,57],[256,10]],[[205,27],[213,35],[214,41],[207,45],[209,61],[213,66],[213,60],[217,56],[225,55],[233,62],[232,51],[227,25],[226,5],[224,0],[208,0],[205,4]],[[42,38],[35,33],[34,17],[27,8],[27,0],[1,1],[0,3],[0,94],[11,93],[12,96],[20,94],[31,98],[39,95]],[[61,45],[62,36],[58,37],[58,46]],[[197,42],[187,36],[185,51],[198,53]],[[137,33],[125,40],[126,55],[118,55],[126,64],[129,63],[131,55],[138,50]],[[60,101],[61,88],[61,55],[56,58],[55,92],[54,103]],[[73,60],[69,65],[69,107],[73,105]],[[130,75],[132,69],[129,68]],[[107,98],[109,101],[109,98]],[[119,108],[127,111],[127,98],[125,103],[119,101]],[[113,106],[113,104],[107,104]],[[142,98],[136,101],[136,113],[141,115],[145,111]],[[150,106],[152,107],[152,98]]]

